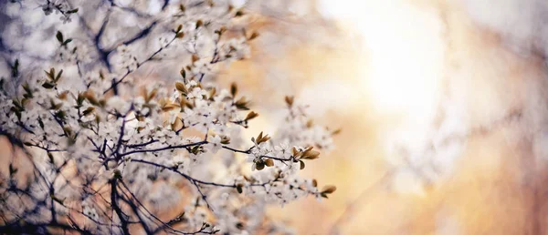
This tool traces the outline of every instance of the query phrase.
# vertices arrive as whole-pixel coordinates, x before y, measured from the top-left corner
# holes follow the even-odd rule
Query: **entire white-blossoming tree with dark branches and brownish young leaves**
[[[78,12],[67,7],[47,1],[43,9]],[[286,97],[287,117],[279,130],[245,140],[242,129],[258,117],[250,100],[236,84],[223,89],[204,81],[215,76],[210,72],[217,63],[248,56],[248,43],[258,34],[239,30],[235,21],[243,10],[223,1],[188,1],[176,8],[163,22],[175,25],[167,32],[171,39],[163,37],[150,55],[136,55],[124,43],[108,52],[121,58],[121,66],[109,60],[99,68],[82,66],[76,48],[84,45],[71,47],[72,38],[58,32],[59,60],[75,63],[79,75],[50,67],[21,77],[17,62],[12,77],[24,82],[0,79],[0,134],[33,166],[26,175],[19,171],[23,160],[12,160],[9,175],[0,180],[8,230],[287,233],[266,217],[269,205],[327,198],[335,191],[319,188],[299,171],[332,148],[336,131],[314,125],[305,106]],[[190,57],[176,81],[132,82],[134,71],[161,60],[176,44]]]

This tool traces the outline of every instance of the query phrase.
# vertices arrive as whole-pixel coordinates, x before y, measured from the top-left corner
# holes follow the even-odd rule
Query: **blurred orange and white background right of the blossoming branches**
[[[548,2],[277,0],[249,11],[251,58],[217,78],[260,104],[249,137],[275,129],[288,95],[342,128],[302,171],[337,191],[271,217],[299,234],[548,234]],[[0,26],[5,58],[25,48],[12,16]]]

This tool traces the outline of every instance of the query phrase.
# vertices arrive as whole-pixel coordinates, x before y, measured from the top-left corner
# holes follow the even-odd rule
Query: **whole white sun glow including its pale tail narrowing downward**
[[[386,160],[402,167],[395,190],[423,195],[422,179],[406,169],[406,162],[422,165],[431,160],[424,149],[432,145],[432,125],[445,106],[439,103],[446,63],[443,24],[435,9],[404,1],[342,2],[323,0],[321,9],[324,15],[342,17],[342,26],[361,37],[366,63],[358,72],[360,89],[371,111],[382,117],[378,138]],[[456,152],[441,152],[443,158],[437,160],[447,159],[450,165]]]

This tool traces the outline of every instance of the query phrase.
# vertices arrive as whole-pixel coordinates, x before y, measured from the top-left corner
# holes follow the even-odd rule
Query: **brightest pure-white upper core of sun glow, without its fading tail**
[[[345,3],[342,3],[345,2]],[[401,1],[321,2],[363,37],[362,84],[375,109],[428,117],[439,95],[444,45],[435,12]]]

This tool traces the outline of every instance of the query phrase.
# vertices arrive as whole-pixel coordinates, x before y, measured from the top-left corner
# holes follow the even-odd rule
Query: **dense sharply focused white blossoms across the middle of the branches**
[[[69,162],[75,162],[79,177],[90,182],[84,184],[86,191],[96,190],[97,185],[93,184],[111,184],[140,199],[139,203],[160,205],[175,203],[180,193],[174,188],[176,182],[185,180],[194,187],[191,191],[200,195],[196,203],[202,203],[198,206],[205,212],[238,221],[244,220],[234,214],[237,203],[259,203],[263,205],[260,212],[264,212],[264,205],[269,203],[284,204],[306,195],[327,197],[334,190],[332,187],[319,190],[315,180],[298,177],[304,161],[320,155],[311,144],[275,145],[263,133],[251,138],[250,148],[231,144],[232,138],[239,138],[232,129],[247,127],[249,120],[258,117],[257,113],[246,111],[248,100],[237,96],[236,85],[230,91],[217,92],[216,87],[205,87],[195,80],[181,81],[171,89],[142,88],[139,96],[122,98],[103,96],[91,89],[59,88],[58,83],[68,79],[62,77],[62,70],[52,68],[46,75],[35,83],[23,85],[20,90],[23,97],[0,96],[5,104],[0,124],[26,147],[47,154],[40,172],[48,172],[44,175],[49,182],[56,181]],[[242,115],[242,112],[248,113]],[[260,172],[247,175],[227,171],[224,180],[206,180],[207,176],[215,177],[215,170],[207,172],[207,169],[215,161],[213,156],[222,150],[247,155],[253,170]],[[233,156],[226,164],[227,169],[233,169],[246,163]],[[51,196],[59,200],[77,200],[83,193],[52,187],[56,193]],[[151,193],[158,188],[161,193]],[[128,196],[128,200],[132,197]],[[210,201],[216,202],[212,205]],[[254,204],[250,209],[257,207]],[[104,220],[95,209],[84,208],[84,214]],[[199,213],[194,215],[198,218],[188,220],[201,218],[203,223],[212,223]],[[150,226],[146,221],[142,223]],[[189,226],[196,224],[202,225],[189,223]]]

